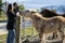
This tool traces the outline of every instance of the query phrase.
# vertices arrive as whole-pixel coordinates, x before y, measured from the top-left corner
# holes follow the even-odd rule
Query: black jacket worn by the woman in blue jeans
[[[6,24],[6,29],[14,29],[14,24],[15,24],[15,17],[16,15],[13,14],[12,12],[6,12],[8,15],[8,24]]]

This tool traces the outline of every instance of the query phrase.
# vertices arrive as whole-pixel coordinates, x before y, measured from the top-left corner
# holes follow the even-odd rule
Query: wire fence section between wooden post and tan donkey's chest
[[[21,37],[37,35],[37,31],[29,18],[21,17]]]

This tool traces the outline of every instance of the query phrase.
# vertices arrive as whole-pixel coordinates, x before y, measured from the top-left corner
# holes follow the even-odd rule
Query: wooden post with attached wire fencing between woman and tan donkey
[[[32,23],[29,19],[24,18],[23,16],[17,16],[15,42],[21,43],[21,38],[28,39],[29,37],[35,35],[37,35],[37,31],[35,30]]]

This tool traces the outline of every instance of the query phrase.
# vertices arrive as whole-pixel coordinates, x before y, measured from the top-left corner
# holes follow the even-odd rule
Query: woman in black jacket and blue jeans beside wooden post
[[[13,13],[13,6],[12,4],[8,5],[8,24],[6,24],[6,29],[8,29],[8,39],[6,43],[14,43],[14,38],[15,38],[15,17],[16,15]]]

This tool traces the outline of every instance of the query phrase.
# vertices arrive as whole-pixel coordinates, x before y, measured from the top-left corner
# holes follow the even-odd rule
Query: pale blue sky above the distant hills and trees
[[[3,0],[4,2],[5,0]],[[47,5],[65,5],[65,0],[6,0],[9,3],[17,2],[26,9],[40,9]]]

